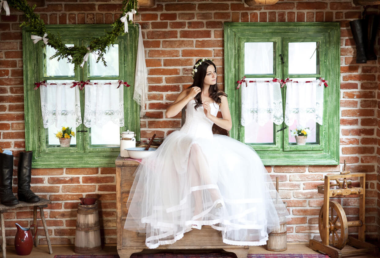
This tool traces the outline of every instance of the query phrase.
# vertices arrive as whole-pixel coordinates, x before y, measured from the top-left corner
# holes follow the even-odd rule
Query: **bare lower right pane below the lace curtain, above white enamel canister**
[[[103,147],[120,146],[120,127],[112,121],[107,124],[94,125],[90,128],[90,145],[107,145]]]

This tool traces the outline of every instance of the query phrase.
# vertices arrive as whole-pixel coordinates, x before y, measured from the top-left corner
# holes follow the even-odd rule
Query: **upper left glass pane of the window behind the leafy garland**
[[[74,44],[65,44],[67,47],[74,47]],[[66,58],[58,61],[57,58],[50,59],[55,54],[55,49],[46,45],[44,53],[44,76],[74,76],[74,64],[67,63]]]

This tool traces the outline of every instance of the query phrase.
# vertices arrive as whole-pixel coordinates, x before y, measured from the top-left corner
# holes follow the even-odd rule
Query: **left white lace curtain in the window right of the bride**
[[[241,86],[241,125],[256,121],[263,126],[268,121],[283,122],[282,96],[279,82],[256,81]]]

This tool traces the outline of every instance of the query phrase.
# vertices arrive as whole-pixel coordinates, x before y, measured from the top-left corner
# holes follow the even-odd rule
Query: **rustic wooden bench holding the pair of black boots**
[[[53,253],[53,250],[51,249],[49,233],[47,232],[46,220],[45,220],[45,216],[44,216],[44,208],[46,208],[47,205],[50,203],[51,203],[51,200],[46,200],[46,199],[40,198],[39,202],[33,202],[33,203],[20,202],[19,204],[12,205],[12,206],[5,206],[3,204],[0,204],[1,235],[3,238],[3,244],[2,244],[3,258],[6,258],[6,239],[5,239],[5,227],[4,227],[4,213],[8,212],[8,210],[18,208],[18,207],[33,206],[33,224],[36,224],[37,208],[40,208],[41,220],[42,220],[42,224],[43,224],[44,230],[45,230],[45,236],[46,236],[46,240],[47,240],[47,245],[49,247],[49,253],[50,254]],[[38,246],[38,237],[35,239],[34,245]]]

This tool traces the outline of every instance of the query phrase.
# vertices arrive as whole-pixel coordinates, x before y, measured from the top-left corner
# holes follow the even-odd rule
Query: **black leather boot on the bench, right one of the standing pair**
[[[17,196],[23,202],[39,202],[40,197],[30,191],[32,179],[32,155],[33,152],[20,152],[19,166],[17,167],[18,188]]]

